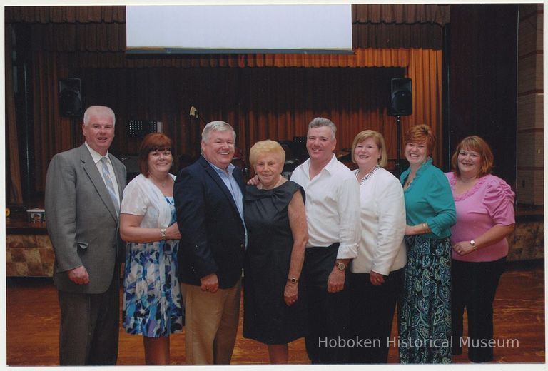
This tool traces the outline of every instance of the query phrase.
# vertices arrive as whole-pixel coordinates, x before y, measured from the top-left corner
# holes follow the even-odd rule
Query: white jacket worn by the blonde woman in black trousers
[[[354,176],[357,171],[353,171]],[[407,263],[405,201],[400,181],[384,168],[377,168],[360,185],[361,238],[352,273],[389,275]]]

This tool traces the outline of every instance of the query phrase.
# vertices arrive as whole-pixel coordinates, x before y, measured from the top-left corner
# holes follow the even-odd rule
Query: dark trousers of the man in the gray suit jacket
[[[102,294],[59,291],[59,365],[116,365],[120,278]]]

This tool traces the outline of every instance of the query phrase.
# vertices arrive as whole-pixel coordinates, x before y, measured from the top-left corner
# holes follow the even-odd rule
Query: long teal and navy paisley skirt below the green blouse
[[[451,362],[450,238],[405,236],[400,363]]]

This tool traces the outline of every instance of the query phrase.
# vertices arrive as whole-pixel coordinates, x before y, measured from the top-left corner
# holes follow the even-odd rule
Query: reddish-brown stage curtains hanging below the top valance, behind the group
[[[389,156],[395,158],[395,118],[387,112],[390,78],[402,76],[412,78],[414,96],[413,114],[402,117],[402,128],[428,123],[441,134],[441,51],[357,50],[356,56],[367,65],[361,68],[305,68],[298,64],[303,63],[303,56],[296,60],[280,57],[278,61],[289,65],[284,68],[270,66],[275,65],[278,56],[268,60],[269,66],[260,68],[180,68],[162,63],[155,68],[101,68],[103,55],[86,54],[84,58],[66,53],[34,54],[39,189],[51,156],[83,140],[80,123],[61,118],[58,113],[57,80],[68,76],[82,79],[86,106],[107,104],[116,111],[115,153],[136,153],[140,140],[126,135],[127,122],[151,118],[163,121],[165,132],[177,143],[177,156],[196,155],[203,122],[189,116],[193,105],[205,120],[223,119],[233,124],[238,147],[245,154],[255,141],[304,136],[312,118],[326,116],[338,125],[338,151],[350,148],[356,133],[372,128],[385,135]],[[88,63],[83,63],[85,67],[74,66],[75,61],[84,59]],[[99,68],[93,68],[93,63]],[[435,153],[437,163],[440,150]]]

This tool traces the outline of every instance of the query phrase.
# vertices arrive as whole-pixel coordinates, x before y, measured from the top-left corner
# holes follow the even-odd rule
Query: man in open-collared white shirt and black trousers
[[[360,188],[333,153],[336,130],[327,118],[310,121],[306,141],[310,158],[291,176],[306,193],[309,238],[302,276],[308,297],[306,351],[313,363],[347,362],[345,271],[357,256],[360,239]]]

